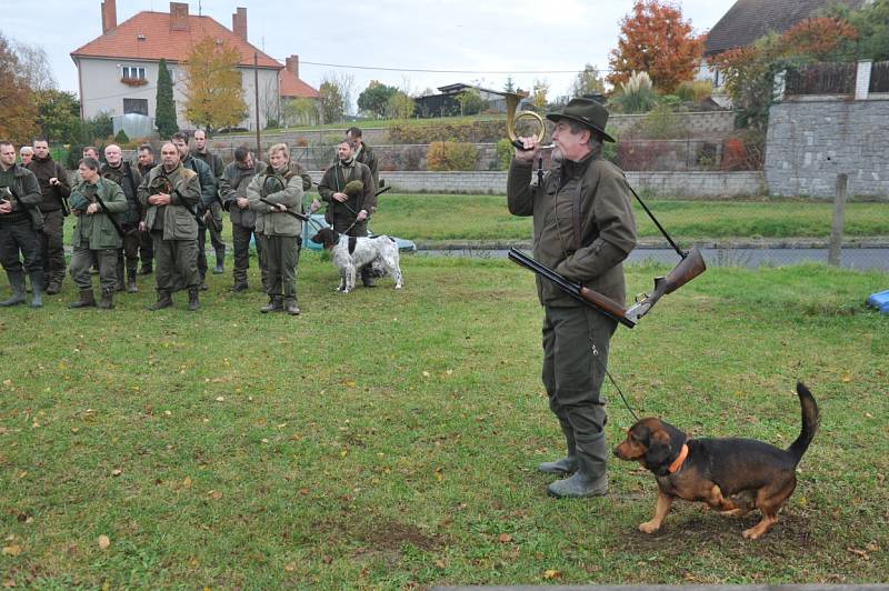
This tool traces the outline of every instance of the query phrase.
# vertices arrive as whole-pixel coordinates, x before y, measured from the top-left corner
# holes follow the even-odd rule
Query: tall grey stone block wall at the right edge
[[[889,196],[889,99],[775,104],[765,172],[779,196],[831,198],[839,173],[849,196]]]

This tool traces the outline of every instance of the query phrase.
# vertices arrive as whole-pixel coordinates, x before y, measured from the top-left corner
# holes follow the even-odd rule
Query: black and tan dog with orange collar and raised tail
[[[689,439],[653,418],[633,424],[615,455],[637,460],[655,472],[659,489],[655,517],[639,529],[657,531],[679,498],[703,501],[729,515],[759,509],[762,520],[745,530],[743,537],[756,540],[769,531],[797,487],[797,464],[818,430],[815,398],[802,383],[797,383],[797,394],[802,431],[787,451],[752,439]]]

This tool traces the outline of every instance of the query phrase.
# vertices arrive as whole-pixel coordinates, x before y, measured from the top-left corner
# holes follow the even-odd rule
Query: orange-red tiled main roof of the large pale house
[[[191,48],[207,37],[220,39],[241,53],[241,66],[253,66],[253,52],[260,68],[283,68],[279,62],[226,29],[210,17],[188,17],[189,30],[171,30],[167,12],[139,12],[101,37],[71,52],[72,58],[109,58],[181,62]],[[144,39],[140,39],[140,37]]]

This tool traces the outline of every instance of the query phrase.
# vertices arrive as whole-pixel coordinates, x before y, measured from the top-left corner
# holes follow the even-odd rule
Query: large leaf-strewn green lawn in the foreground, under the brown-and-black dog
[[[811,388],[821,429],[778,525],[751,542],[757,517],[682,502],[639,532],[656,484],[637,464],[610,463],[607,498],[547,498],[533,467],[562,442],[531,274],[503,260],[402,267],[404,290],[384,279],[343,297],[332,264],[303,253],[299,318],[260,314],[263,296],[224,291],[229,276],[210,276],[197,313],[183,293],[147,312],[152,278],[110,312],[67,309],[70,280],[40,311],[4,309],[2,583],[886,581],[889,317],[863,300],[889,274],[711,269],[616,334],[610,370],[630,403],[692,437],[786,447],[795,382]],[[628,292],[665,270],[629,268]],[[605,393],[616,444],[632,419]]]

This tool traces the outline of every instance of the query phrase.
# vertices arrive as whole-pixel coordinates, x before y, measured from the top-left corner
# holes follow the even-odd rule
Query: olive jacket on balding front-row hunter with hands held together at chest
[[[151,206],[148,198],[151,196],[151,187],[158,177],[167,177],[172,182],[174,192],[170,196],[172,201],[169,206]],[[171,172],[163,169],[163,164],[158,164],[151,172],[142,177],[142,184],[139,186],[139,201],[146,209],[146,226],[149,231],[154,230],[154,220],[160,217],[162,221],[163,240],[197,240],[198,222],[194,216],[184,206],[194,208],[201,201],[201,184],[198,173],[193,170],[183,168],[179,164]]]

